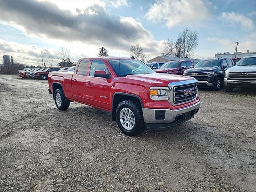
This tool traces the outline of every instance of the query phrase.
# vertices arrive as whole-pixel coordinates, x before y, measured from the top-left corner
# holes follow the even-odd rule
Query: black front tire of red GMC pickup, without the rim
[[[125,108],[128,108],[129,110],[131,110],[131,112],[134,116],[134,119],[135,119],[134,126],[130,130],[124,128],[124,126],[122,125],[121,120],[120,120],[120,112],[121,112],[121,110],[123,110]],[[130,117],[127,116],[127,118],[130,118]],[[123,120],[125,121],[125,118],[123,118]],[[117,121],[117,124],[118,124],[118,127],[120,128],[120,130],[124,134],[129,135],[129,136],[134,136],[136,134],[140,134],[141,132],[143,132],[145,130],[145,122],[144,122],[144,118],[143,118],[142,108],[140,106],[140,103],[137,102],[136,100],[124,100],[118,104],[118,106],[116,108],[116,121]],[[131,124],[132,124],[132,122],[131,122]]]

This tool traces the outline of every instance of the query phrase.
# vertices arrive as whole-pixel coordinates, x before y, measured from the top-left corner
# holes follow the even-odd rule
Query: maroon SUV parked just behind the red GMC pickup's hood
[[[171,73],[176,75],[183,75],[184,70],[192,68],[196,65],[195,61],[184,60],[184,61],[169,61],[163,64],[159,69],[155,71],[157,73]]]

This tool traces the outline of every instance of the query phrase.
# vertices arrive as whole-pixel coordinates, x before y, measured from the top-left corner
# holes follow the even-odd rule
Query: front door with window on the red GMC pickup
[[[106,64],[101,59],[94,59],[90,64],[89,76],[86,77],[86,103],[98,108],[111,110],[110,88],[111,78],[94,77],[94,71],[103,70],[109,73]]]

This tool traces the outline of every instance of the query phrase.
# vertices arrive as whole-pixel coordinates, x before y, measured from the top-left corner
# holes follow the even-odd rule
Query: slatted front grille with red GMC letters
[[[198,83],[174,86],[173,103],[180,104],[189,102],[197,97]]]

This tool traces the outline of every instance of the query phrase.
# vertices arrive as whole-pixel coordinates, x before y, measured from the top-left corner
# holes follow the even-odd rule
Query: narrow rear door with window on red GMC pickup
[[[75,101],[85,103],[85,80],[88,72],[89,59],[80,60],[72,77],[72,93]]]

